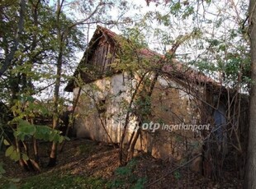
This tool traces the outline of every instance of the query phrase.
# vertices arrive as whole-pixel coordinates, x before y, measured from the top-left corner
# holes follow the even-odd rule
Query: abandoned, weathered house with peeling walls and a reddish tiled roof
[[[122,39],[111,30],[97,26],[73,79],[65,88],[73,92],[75,135],[118,144],[127,125],[126,144],[140,125],[142,131],[136,150],[156,158],[178,160],[200,153],[203,138],[213,125],[221,131],[226,122],[225,100],[218,96],[222,86],[174,59],[171,64],[159,67],[159,60],[164,56],[148,48],[129,47],[129,40]],[[124,48],[128,48],[131,58],[126,57]],[[150,64],[158,66],[157,76],[150,75],[150,71],[143,75],[147,70],[145,65]],[[138,87],[142,75],[151,84],[155,80],[150,85],[150,113],[144,119],[138,118],[135,108],[140,104],[135,100],[139,99],[135,92],[145,90],[143,85]],[[216,103],[217,108],[211,108]],[[143,111],[147,110],[141,108],[140,113]],[[224,137],[222,132],[219,137]]]

